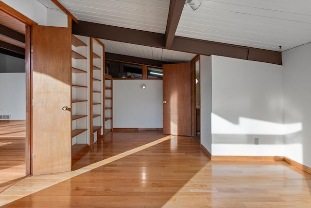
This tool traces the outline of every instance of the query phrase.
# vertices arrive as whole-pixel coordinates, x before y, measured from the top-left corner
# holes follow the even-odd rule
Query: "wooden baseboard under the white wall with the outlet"
[[[284,161],[284,156],[212,156],[212,161]]]

